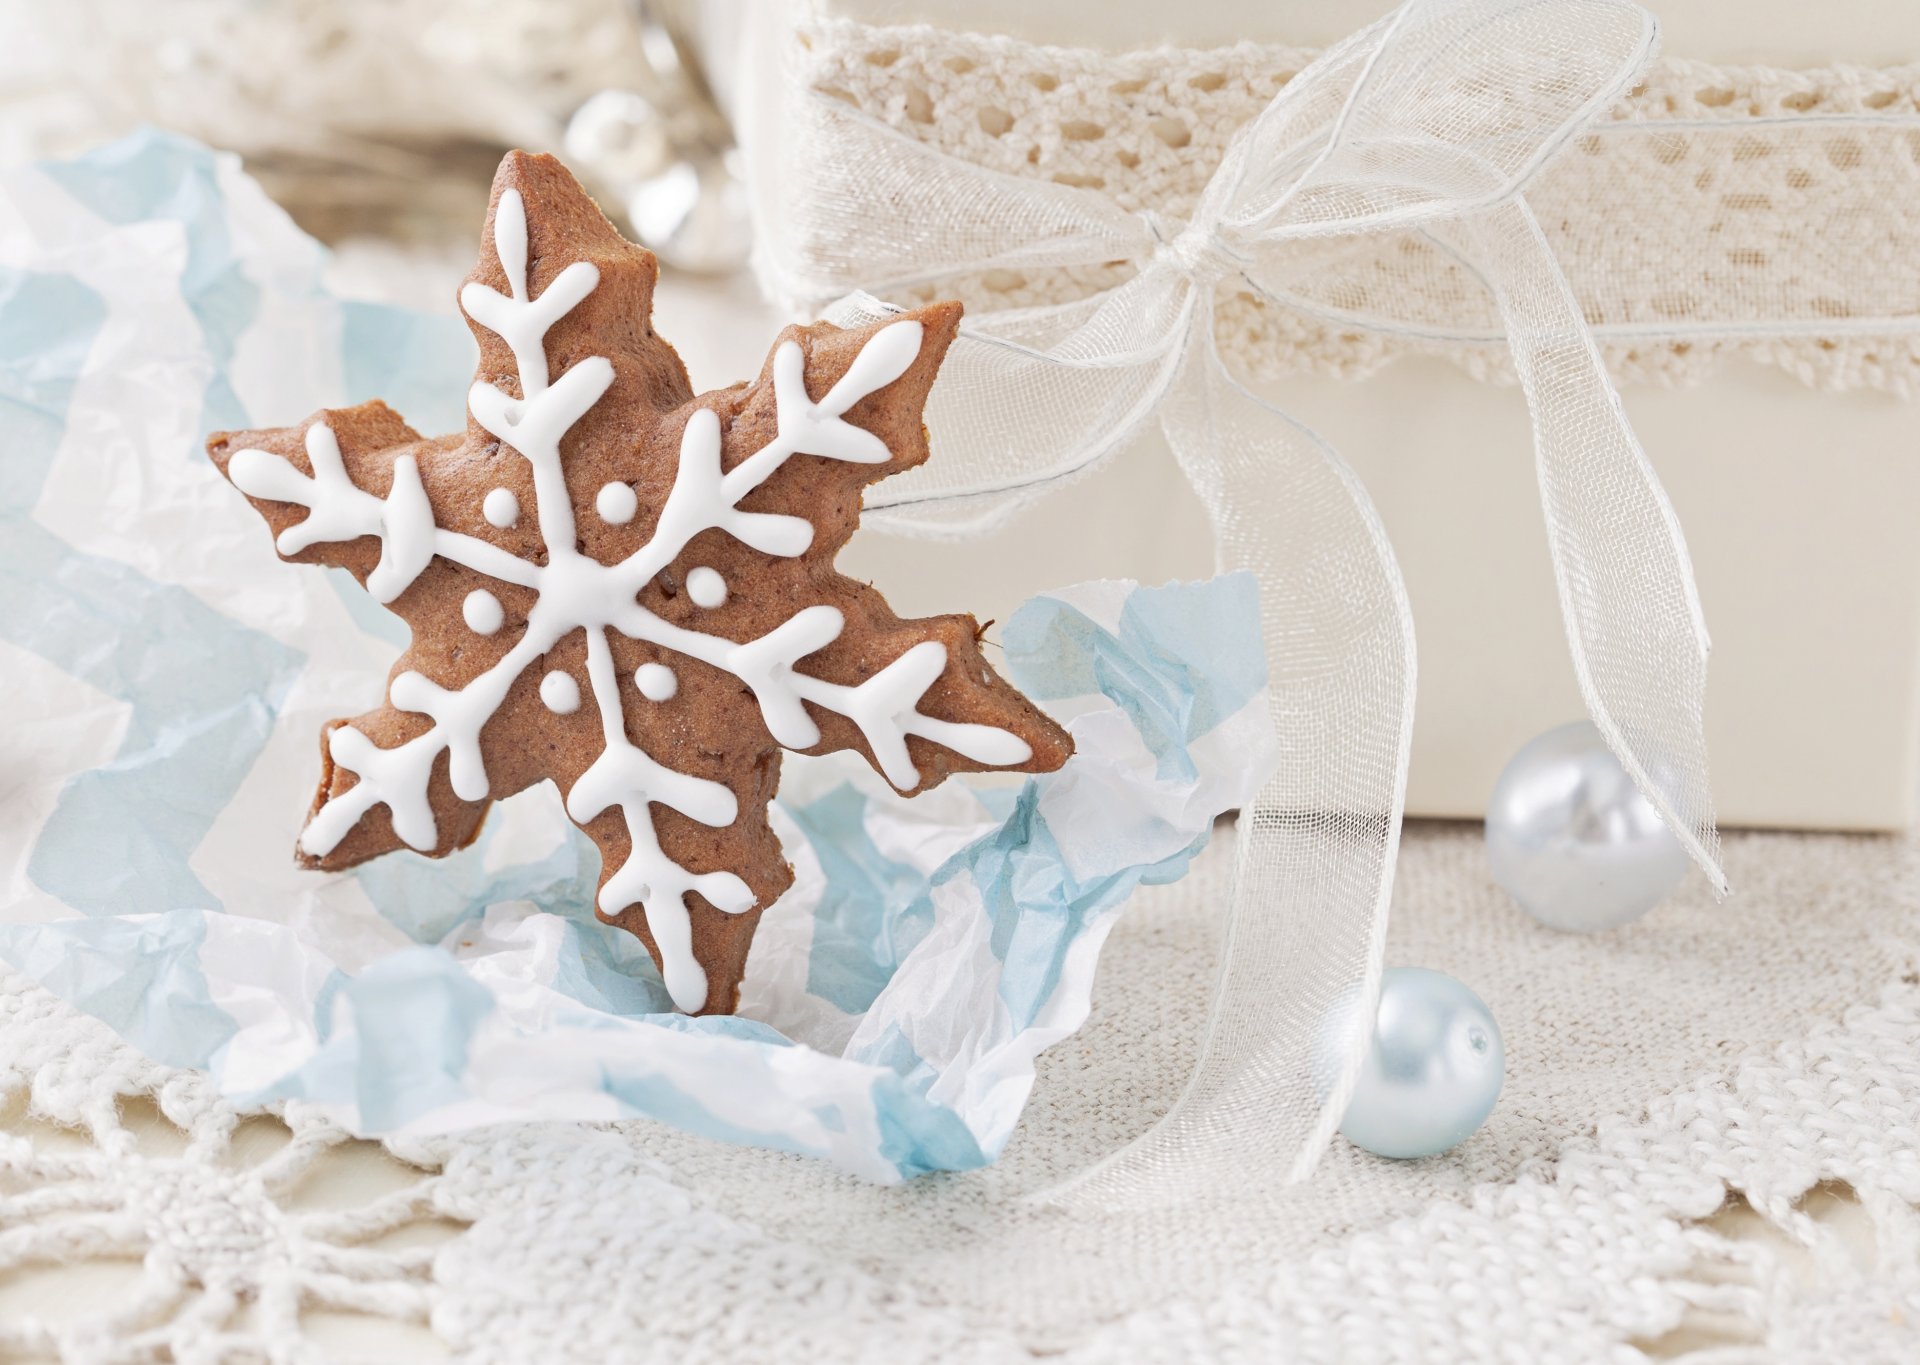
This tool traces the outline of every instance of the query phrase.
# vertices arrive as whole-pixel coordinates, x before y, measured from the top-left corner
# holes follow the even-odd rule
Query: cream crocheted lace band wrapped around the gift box
[[[803,83],[922,142],[1173,217],[1315,56],[1254,42],[1106,54],[822,15],[795,42]],[[1528,202],[1622,380],[1686,382],[1745,355],[1822,390],[1920,390],[1920,63],[1663,60]],[[1221,299],[1236,367],[1357,378],[1430,353],[1511,378],[1484,290],[1430,244],[1348,242],[1329,263],[1338,282],[1298,307]],[[1125,275],[991,271],[916,296],[1027,307]]]

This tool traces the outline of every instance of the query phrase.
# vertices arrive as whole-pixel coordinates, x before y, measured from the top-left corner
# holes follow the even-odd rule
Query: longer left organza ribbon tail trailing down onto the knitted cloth
[[[1225,372],[1210,309],[1192,336],[1162,420],[1221,566],[1260,578],[1281,760],[1240,812],[1187,1090],[1152,1131],[1041,1196],[1110,1211],[1311,1173],[1371,1035],[1413,737],[1413,614],[1367,491]]]

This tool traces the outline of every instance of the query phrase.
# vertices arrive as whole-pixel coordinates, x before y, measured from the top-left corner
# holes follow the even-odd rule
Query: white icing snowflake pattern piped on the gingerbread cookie
[[[641,906],[660,950],[674,1004],[695,1012],[707,1004],[707,973],[693,956],[685,897],[697,893],[726,914],[741,914],[753,908],[753,891],[732,872],[693,874],[668,858],[653,829],[651,804],[724,827],[739,816],[739,802],[726,785],[674,772],[628,737],[609,630],[732,672],[753,691],[768,731],[781,745],[806,749],[820,743],[820,726],[808,716],[806,703],[849,716],[866,737],[879,770],[902,789],[920,783],[908,735],[983,764],[1006,766],[1031,756],[1027,743],[1004,730],[920,714],[920,699],[947,666],[947,649],[935,641],[914,645],[858,687],[845,687],[795,670],[799,659],[839,637],[845,620],[833,607],[806,607],[760,639],[737,643],[676,626],[637,601],[639,591],[707,530],[722,530],[764,555],[791,559],[804,553],[814,539],[806,518],[743,513],[741,499],[797,453],[866,465],[887,461],[891,451],[885,442],[841,419],[914,363],[922,326],[900,321],[876,332],[847,374],[818,403],[806,395],[804,351],[797,342],[783,342],[774,351],[774,440],[722,472],[720,420],[708,409],[695,409],[682,432],[674,488],[651,539],[620,563],[603,564],[576,549],[574,505],[561,467],[561,440],[612,384],[612,363],[593,355],[551,378],[545,353],[547,328],[588,298],[599,273],[584,261],[568,265],[540,298],[532,298],[526,278],[526,207],[516,190],[505,190],[499,198],[493,250],[509,294],[468,284],[461,290],[461,303],[468,317],[507,342],[518,367],[520,394],[474,384],[467,401],[474,420],[532,468],[545,563],[522,561],[490,541],[438,528],[411,455],[394,461],[394,488],[386,499],[359,490],[346,474],[332,432],[321,422],[307,430],[307,455],[315,470],[311,478],[265,451],[238,451],[230,465],[234,484],[244,491],[309,509],[303,522],[282,532],[282,553],[298,553],[321,541],[378,536],[380,566],[369,576],[369,589],[380,601],[399,595],[434,555],[536,593],[520,637],[463,689],[447,691],[419,672],[394,680],[394,706],[432,718],[434,724],[424,733],[394,749],[378,749],[351,726],[332,731],[328,753],[357,781],[315,812],[300,847],[311,856],[324,856],[361,816],[384,804],[399,839],[415,849],[434,849],[438,827],[428,781],[440,753],[447,753],[455,795],[484,801],[492,793],[480,753],[480,733],[488,720],[526,668],[566,635],[586,632],[588,685],[601,720],[603,749],[566,793],[566,810],[578,822],[620,810],[632,850],[601,887],[599,910],[612,918],[628,906]],[[611,499],[618,499],[618,493],[609,493],[612,488],[616,486],[609,484],[599,490],[597,509],[605,520],[628,520],[632,511],[616,516],[611,513],[622,509],[607,507]],[[626,488],[632,497],[632,488]],[[511,526],[520,509],[511,491],[495,488],[482,511],[493,526]],[[695,568],[687,574],[687,595],[703,607],[716,607],[726,601],[726,582],[710,568]],[[482,624],[474,622],[480,597],[492,599],[499,609],[492,593],[472,593],[463,614],[476,630]],[[645,664],[636,670],[636,685],[643,697],[664,701],[678,691],[678,678],[664,664]],[[540,699],[557,714],[576,712],[582,705],[580,683],[568,672],[551,670],[540,682]]]

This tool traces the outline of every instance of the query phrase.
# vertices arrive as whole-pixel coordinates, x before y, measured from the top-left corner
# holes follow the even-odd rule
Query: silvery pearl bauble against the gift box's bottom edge
[[[1638,920],[1688,870],[1686,849],[1586,720],[1513,754],[1486,806],[1486,858],[1526,914],[1574,933]]]

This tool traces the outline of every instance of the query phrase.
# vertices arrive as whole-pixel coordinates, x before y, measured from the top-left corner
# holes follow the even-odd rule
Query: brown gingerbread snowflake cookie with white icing
[[[972,616],[900,620],[833,568],[862,488],[927,457],[960,307],[789,328],[758,380],[695,397],[653,255],[559,161],[501,163],[488,240],[463,436],[363,403],[207,443],[282,559],[348,568],[413,630],[386,705],[324,728],[298,858],[445,856],[553,779],[601,918],[682,1010],[730,1012],[793,879],[766,822],[783,747],[854,749],[904,793],[1071,753]]]

